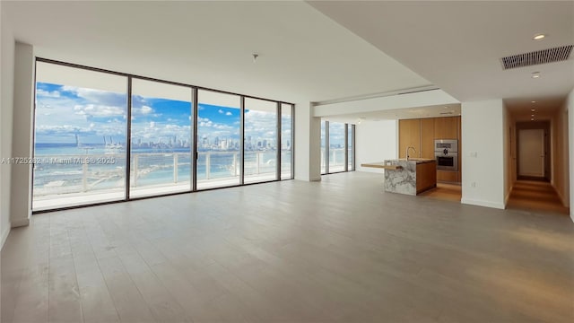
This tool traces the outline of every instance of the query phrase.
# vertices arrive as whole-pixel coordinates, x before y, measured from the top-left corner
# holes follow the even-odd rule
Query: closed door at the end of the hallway
[[[544,177],[544,130],[518,130],[518,175]]]

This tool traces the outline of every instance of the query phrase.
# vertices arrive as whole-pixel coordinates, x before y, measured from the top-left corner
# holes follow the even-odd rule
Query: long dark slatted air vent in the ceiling
[[[503,69],[540,65],[552,62],[560,62],[570,57],[574,45],[561,46],[559,48],[549,48],[537,50],[526,54],[518,54],[511,57],[502,57]]]

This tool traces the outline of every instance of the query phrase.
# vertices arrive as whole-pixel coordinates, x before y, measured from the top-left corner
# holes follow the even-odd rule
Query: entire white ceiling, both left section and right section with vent
[[[3,28],[7,18],[39,57],[273,100],[436,85],[461,101],[505,99],[526,118],[531,100],[555,109],[574,87],[573,58],[509,71],[499,60],[572,44],[571,1],[309,4],[0,2]],[[538,32],[549,37],[533,41]],[[532,79],[533,71],[542,77]],[[412,112],[404,113],[397,118]]]

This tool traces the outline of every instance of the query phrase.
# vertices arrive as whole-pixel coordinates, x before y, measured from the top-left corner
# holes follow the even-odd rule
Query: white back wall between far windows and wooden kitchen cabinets
[[[382,169],[361,167],[365,162],[382,162],[396,159],[397,121],[364,121],[355,127],[356,170],[384,173]]]

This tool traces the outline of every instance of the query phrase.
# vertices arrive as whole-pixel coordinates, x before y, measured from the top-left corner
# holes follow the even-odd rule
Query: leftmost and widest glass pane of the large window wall
[[[32,210],[125,198],[127,79],[38,62]]]

